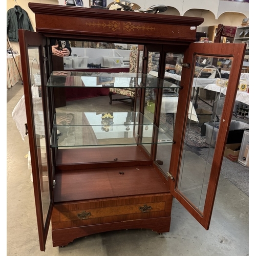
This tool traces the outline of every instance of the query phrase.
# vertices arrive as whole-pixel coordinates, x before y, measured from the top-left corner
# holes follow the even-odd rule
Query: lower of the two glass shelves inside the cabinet
[[[58,148],[156,143],[173,143],[173,136],[134,112],[56,113],[51,138]]]

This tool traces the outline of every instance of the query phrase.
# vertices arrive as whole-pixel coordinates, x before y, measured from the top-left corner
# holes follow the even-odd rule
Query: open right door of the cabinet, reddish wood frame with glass
[[[175,143],[169,168],[169,176],[172,179],[170,190],[206,230],[209,228],[214,206],[245,49],[245,44],[193,43],[184,53],[174,131]],[[202,69],[204,65],[201,65],[199,68],[199,63],[205,63],[205,67]],[[216,78],[215,73],[221,76],[220,70],[215,68],[219,66],[222,67],[222,73],[230,73],[228,80]],[[212,102],[214,106],[211,125],[205,134],[205,154],[202,156],[200,148],[189,142],[193,140],[194,135],[191,132],[191,119],[186,117],[187,102],[192,101],[197,108],[195,102],[198,102],[197,92],[204,81],[204,72],[212,72],[212,77],[216,78],[212,86],[219,83],[219,89],[216,99]],[[207,79],[212,83],[212,77],[207,77],[206,83]],[[183,129],[179,129],[180,127]]]

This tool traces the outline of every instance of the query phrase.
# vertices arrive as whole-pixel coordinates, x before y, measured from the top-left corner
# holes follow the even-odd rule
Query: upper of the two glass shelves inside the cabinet
[[[53,71],[47,87],[180,88],[153,75],[71,71]]]

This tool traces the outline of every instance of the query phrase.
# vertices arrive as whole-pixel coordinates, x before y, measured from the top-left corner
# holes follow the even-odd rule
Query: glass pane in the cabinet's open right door
[[[195,57],[190,103],[198,120],[187,120],[177,187],[202,215],[231,63],[231,58]]]

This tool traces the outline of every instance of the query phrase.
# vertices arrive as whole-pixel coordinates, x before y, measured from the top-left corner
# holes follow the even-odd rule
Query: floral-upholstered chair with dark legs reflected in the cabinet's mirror
[[[132,50],[130,53],[130,72],[129,73],[136,73],[137,72],[137,58],[138,58],[138,51]],[[135,96],[136,96],[136,88],[133,88],[133,78],[130,81],[131,88],[110,88],[109,97],[110,97],[110,104],[112,101],[120,101],[126,104],[131,105],[132,110],[134,110],[135,105]],[[112,98],[113,94],[123,95],[122,98]]]

